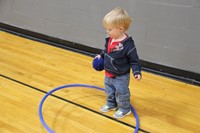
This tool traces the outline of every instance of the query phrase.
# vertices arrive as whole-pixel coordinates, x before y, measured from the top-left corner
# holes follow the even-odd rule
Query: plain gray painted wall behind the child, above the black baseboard
[[[116,6],[133,18],[142,60],[200,73],[200,0],[0,0],[0,22],[103,49]]]

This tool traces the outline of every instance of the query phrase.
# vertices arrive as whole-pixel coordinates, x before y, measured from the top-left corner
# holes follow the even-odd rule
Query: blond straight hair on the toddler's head
[[[113,9],[103,18],[103,26],[105,28],[108,28],[110,26],[115,28],[123,27],[126,31],[128,30],[130,24],[131,17],[129,16],[126,10],[120,7]]]

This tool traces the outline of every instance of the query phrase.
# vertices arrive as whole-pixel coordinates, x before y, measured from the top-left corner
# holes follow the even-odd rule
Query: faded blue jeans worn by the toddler
[[[106,104],[109,107],[118,107],[124,113],[130,111],[129,81],[130,73],[115,78],[105,76]]]

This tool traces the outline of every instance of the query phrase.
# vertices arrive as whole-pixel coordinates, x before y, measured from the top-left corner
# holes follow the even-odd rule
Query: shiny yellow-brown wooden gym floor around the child
[[[46,133],[38,107],[55,87],[82,83],[104,88],[104,72],[92,68],[92,58],[0,31],[0,133]],[[139,133],[199,133],[200,87],[143,72],[132,77],[131,104],[140,119]],[[57,133],[132,133],[131,114],[113,119],[99,108],[102,91],[62,89],[43,105],[44,119]]]

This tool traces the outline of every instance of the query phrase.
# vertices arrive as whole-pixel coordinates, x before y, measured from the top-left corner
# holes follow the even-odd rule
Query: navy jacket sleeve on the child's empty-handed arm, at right
[[[137,74],[141,74],[141,65],[139,62],[139,57],[137,54],[137,50],[135,45],[132,45],[133,47],[130,48],[130,50],[127,53],[127,56],[129,58],[129,62],[130,62],[130,67],[132,69],[133,75],[137,75]]]

